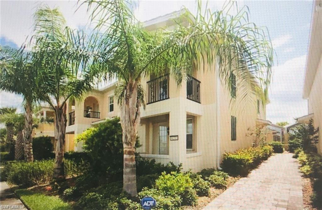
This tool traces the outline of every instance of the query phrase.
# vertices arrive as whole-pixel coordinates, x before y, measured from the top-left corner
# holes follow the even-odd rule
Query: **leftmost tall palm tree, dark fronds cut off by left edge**
[[[32,108],[35,101],[35,71],[32,68],[32,53],[24,48],[0,48],[0,87],[2,90],[24,97],[25,120],[22,131],[26,159],[33,161],[32,147]]]

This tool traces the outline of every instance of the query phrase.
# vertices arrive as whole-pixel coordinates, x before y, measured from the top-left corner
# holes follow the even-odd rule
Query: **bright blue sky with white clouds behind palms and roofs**
[[[223,1],[209,1],[211,10],[221,9]],[[67,25],[84,28],[88,25],[86,7],[76,12],[77,1],[4,1],[0,2],[0,44],[21,46],[33,29],[33,13],[39,4],[58,6]],[[270,104],[266,106],[266,119],[273,123],[295,122],[294,118],[308,114],[307,100],[302,99],[304,70],[310,30],[312,1],[238,1],[247,5],[250,21],[266,26],[277,57],[270,86]],[[138,1],[134,11],[140,21],[165,15],[185,6],[196,10],[195,1]],[[1,92],[0,106],[14,106],[22,112],[22,97]]]

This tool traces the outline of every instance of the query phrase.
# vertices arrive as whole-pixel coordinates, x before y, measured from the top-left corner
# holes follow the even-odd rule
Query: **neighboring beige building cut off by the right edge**
[[[305,68],[303,98],[308,99],[308,114],[297,118],[297,123],[313,119],[314,126],[322,128],[322,1],[313,2],[311,31]],[[318,152],[322,153],[322,135],[319,132]]]

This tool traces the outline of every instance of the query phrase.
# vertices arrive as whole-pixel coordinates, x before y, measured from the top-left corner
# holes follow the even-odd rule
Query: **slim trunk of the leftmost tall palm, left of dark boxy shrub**
[[[28,162],[33,162],[33,114],[32,114],[32,103],[30,101],[26,101],[25,109],[25,116],[24,116],[24,129],[23,139],[24,139],[24,153],[26,160]]]

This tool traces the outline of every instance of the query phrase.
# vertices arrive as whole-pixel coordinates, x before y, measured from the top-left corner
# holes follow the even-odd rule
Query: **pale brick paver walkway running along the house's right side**
[[[302,178],[291,153],[275,154],[204,209],[303,209]]]

